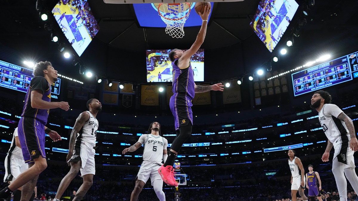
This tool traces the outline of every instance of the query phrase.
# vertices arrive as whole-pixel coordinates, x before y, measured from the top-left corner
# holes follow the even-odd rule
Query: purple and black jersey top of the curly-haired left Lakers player
[[[30,117],[37,119],[44,125],[47,123],[49,109],[37,109],[31,107],[31,92],[32,90],[38,90],[42,93],[42,100],[51,102],[51,87],[47,80],[42,76],[34,77],[31,82],[30,86],[27,89],[26,96],[25,96],[25,104],[23,108],[23,113],[21,117]]]

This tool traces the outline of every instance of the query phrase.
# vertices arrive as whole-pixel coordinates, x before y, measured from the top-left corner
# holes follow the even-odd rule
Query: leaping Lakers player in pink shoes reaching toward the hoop
[[[183,143],[191,136],[193,126],[192,100],[195,93],[208,92],[210,90],[223,91],[221,83],[211,86],[197,86],[194,83],[194,72],[190,64],[190,58],[198,51],[203,44],[207,21],[210,14],[209,7],[205,6],[204,13],[199,12],[203,24],[194,44],[187,51],[174,49],[169,53],[169,59],[173,65],[173,96],[170,98],[170,110],[174,116],[176,138],[170,148],[168,159],[158,169],[163,181],[168,185],[174,185],[172,169],[173,163]]]

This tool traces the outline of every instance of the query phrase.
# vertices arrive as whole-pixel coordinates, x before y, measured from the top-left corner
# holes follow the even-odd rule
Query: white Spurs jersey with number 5
[[[143,144],[143,160],[152,163],[163,164],[163,150],[168,147],[168,140],[161,136],[152,134],[143,134],[138,142]]]

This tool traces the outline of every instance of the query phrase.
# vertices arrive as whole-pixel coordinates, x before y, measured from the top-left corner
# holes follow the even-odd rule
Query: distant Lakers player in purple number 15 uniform
[[[308,166],[308,171],[309,172],[306,173],[306,186],[308,188],[308,196],[310,197],[310,200],[315,200],[314,196],[317,196],[317,199],[319,201],[322,201],[322,183],[321,178],[319,177],[319,173],[313,171],[313,165]]]

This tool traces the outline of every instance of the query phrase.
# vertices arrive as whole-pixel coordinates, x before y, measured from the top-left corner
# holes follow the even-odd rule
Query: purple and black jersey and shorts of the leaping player
[[[173,65],[173,96],[170,98],[170,110],[174,116],[175,130],[178,130],[180,126],[187,126],[189,121],[193,125],[193,112],[192,112],[192,100],[194,99],[195,83],[194,72],[192,65],[189,62],[189,66],[184,69],[180,69],[176,64],[178,59],[175,59]]]

